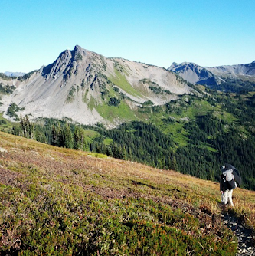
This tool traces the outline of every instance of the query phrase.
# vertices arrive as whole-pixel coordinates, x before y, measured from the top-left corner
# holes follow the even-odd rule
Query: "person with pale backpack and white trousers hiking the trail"
[[[220,180],[220,190],[221,190],[221,202],[227,206],[227,202],[230,202],[230,206],[234,206],[232,200],[233,189],[237,187],[237,183],[234,180],[234,170],[229,164],[221,166],[221,180]]]

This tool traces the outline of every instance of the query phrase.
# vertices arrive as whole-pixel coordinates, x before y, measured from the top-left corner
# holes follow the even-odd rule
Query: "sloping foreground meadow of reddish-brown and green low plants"
[[[255,192],[232,210],[255,228]],[[0,254],[233,255],[219,185],[0,132]]]

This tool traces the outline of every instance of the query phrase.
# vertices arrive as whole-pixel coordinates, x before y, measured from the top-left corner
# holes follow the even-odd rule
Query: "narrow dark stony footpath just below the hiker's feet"
[[[238,240],[238,252],[236,256],[255,256],[255,240],[253,231],[245,228],[240,218],[230,212],[222,215],[225,225],[234,232]]]

